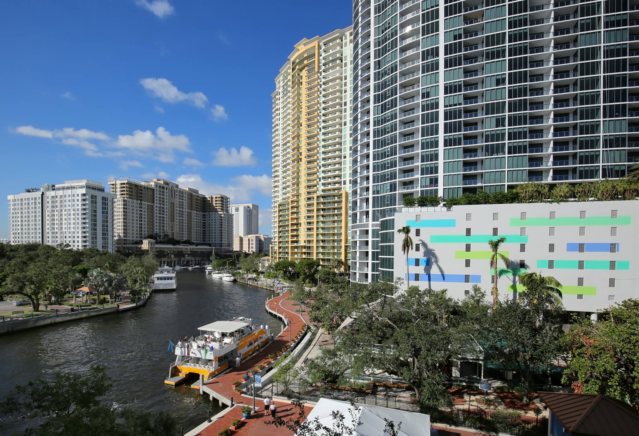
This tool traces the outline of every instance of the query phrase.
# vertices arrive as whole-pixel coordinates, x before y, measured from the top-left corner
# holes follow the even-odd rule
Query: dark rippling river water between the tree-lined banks
[[[246,316],[279,332],[281,322],[266,312],[272,291],[225,282],[204,270],[180,271],[176,291],[158,291],[146,306],[119,314],[44,326],[0,336],[0,401],[15,384],[54,372],[84,372],[107,366],[113,388],[105,400],[145,411],[167,411],[185,432],[221,409],[188,385],[164,383],[175,355],[169,339],[197,334],[213,321]],[[28,421],[0,417],[0,434],[20,434]]]

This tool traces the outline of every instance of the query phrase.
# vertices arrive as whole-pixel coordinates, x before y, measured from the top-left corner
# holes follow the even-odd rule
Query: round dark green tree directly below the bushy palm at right
[[[550,294],[524,292],[516,301],[501,302],[488,319],[489,328],[478,330],[484,332],[486,360],[520,372],[531,392],[535,368],[550,368],[560,352],[560,315]]]

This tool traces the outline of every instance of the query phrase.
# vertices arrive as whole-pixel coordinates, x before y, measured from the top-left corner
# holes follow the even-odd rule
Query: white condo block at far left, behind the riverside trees
[[[67,180],[7,198],[12,244],[68,243],[72,249],[113,251],[115,196],[100,182]]]

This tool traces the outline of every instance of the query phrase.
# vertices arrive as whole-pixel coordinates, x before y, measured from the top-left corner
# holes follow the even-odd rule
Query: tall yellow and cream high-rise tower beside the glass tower
[[[348,263],[351,27],[295,45],[275,78],[270,257]]]

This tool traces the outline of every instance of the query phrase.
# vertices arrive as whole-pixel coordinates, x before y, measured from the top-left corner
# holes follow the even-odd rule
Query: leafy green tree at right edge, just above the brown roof
[[[564,382],[576,392],[603,394],[639,409],[639,300],[599,312],[600,321],[575,319],[563,338],[569,349]]]

